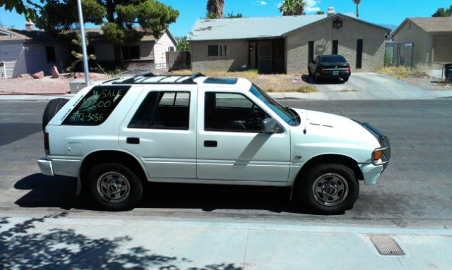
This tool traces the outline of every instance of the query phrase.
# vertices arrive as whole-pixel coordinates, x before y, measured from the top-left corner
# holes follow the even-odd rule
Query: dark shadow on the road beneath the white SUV
[[[76,178],[44,176],[36,173],[18,180],[14,188],[30,190],[20,197],[19,207],[57,207],[61,209],[101,210],[88,192],[75,195]],[[273,213],[314,214],[307,207],[290,202],[290,189],[240,185],[199,185],[147,183],[136,208],[267,210]]]

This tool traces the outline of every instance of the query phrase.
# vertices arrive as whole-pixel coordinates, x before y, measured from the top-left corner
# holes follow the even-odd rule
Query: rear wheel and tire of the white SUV
[[[88,190],[102,209],[124,211],[133,209],[143,195],[143,183],[124,165],[105,163],[88,173]]]

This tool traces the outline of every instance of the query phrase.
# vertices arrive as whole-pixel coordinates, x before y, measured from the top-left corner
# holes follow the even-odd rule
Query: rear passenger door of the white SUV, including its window
[[[144,91],[121,123],[119,146],[141,159],[153,180],[196,178],[196,92],[178,85]]]

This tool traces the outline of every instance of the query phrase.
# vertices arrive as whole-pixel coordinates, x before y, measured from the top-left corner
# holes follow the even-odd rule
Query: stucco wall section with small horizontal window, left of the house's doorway
[[[229,45],[230,55],[208,56],[208,45]],[[196,71],[233,71],[248,66],[248,42],[244,40],[192,41],[191,66]]]

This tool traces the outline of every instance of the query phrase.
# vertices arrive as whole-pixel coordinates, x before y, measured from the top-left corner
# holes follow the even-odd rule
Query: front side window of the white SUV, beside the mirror
[[[259,133],[265,118],[270,116],[242,94],[206,92],[204,130]]]

